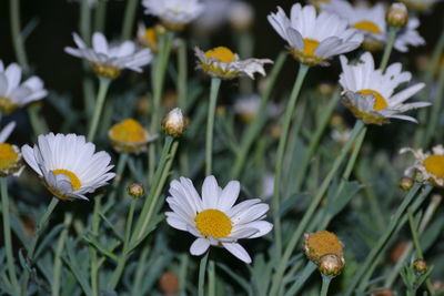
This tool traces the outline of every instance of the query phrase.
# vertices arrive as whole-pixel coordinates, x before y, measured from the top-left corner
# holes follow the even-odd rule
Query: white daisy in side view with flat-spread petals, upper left
[[[149,49],[138,49],[132,41],[109,44],[102,33],[95,32],[92,35],[92,49],[90,49],[77,33],[72,35],[78,49],[64,48],[64,51],[90,61],[92,70],[105,78],[114,79],[119,76],[122,69],[142,72],[142,67],[149,64],[152,60],[152,53]]]

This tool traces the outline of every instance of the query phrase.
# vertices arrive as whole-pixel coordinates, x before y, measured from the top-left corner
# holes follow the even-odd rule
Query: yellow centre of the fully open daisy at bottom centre
[[[231,220],[219,210],[205,210],[199,213],[195,218],[198,231],[206,238],[226,237],[231,233]]]

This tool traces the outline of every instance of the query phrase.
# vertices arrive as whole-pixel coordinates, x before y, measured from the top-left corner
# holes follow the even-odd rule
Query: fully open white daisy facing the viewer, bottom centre
[[[192,255],[202,255],[210,245],[223,246],[239,259],[251,263],[249,253],[238,244],[238,239],[263,236],[273,225],[263,221],[269,205],[261,203],[260,198],[234,205],[239,192],[238,181],[221,188],[214,176],[205,177],[202,197],[191,180],[181,177],[171,182],[171,196],[167,202],[173,212],[165,213],[167,222],[198,237],[190,247]]]

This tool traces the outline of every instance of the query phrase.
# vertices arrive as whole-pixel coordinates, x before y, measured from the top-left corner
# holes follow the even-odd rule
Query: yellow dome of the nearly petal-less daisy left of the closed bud
[[[110,130],[112,141],[135,144],[147,141],[147,131],[133,119],[114,124]]]

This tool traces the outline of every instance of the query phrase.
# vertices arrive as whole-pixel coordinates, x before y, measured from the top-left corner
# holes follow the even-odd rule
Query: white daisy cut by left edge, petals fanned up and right
[[[20,81],[21,68],[17,63],[4,68],[0,60],[0,112],[10,113],[48,95],[40,78],[31,76],[23,83]]]

